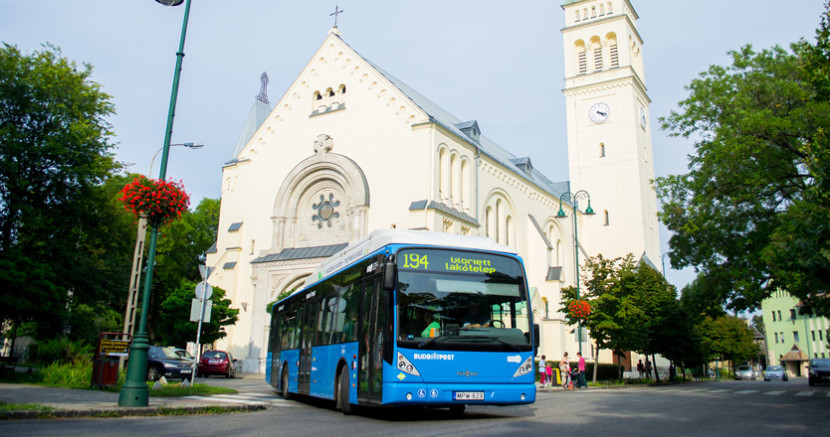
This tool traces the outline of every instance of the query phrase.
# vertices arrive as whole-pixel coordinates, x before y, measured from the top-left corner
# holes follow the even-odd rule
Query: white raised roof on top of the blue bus
[[[346,267],[347,265],[390,244],[417,244],[419,246],[456,247],[517,254],[516,249],[496,243],[488,237],[471,237],[446,232],[412,231],[402,229],[379,229],[360,240],[353,241],[345,249],[323,261],[320,267],[308,276],[305,286]]]

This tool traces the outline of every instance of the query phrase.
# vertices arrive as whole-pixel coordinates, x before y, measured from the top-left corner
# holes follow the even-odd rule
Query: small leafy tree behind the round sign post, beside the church
[[[179,287],[167,295],[161,308],[164,317],[157,326],[159,343],[184,346],[188,341],[196,341],[197,322],[190,321],[190,306],[194,298],[196,282],[182,280]],[[230,299],[225,298],[225,290],[213,287],[213,301],[210,322],[202,323],[201,344],[211,344],[227,333],[225,327],[234,325],[239,319],[239,310],[230,307]]]

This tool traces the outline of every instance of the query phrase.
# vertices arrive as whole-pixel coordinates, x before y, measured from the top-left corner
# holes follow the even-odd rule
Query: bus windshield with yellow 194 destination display
[[[518,260],[491,253],[403,249],[397,263],[401,346],[530,350],[527,293]]]

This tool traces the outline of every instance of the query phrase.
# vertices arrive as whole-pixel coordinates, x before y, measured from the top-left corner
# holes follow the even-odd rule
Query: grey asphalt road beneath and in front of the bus
[[[830,386],[723,381],[664,387],[540,392],[535,404],[447,410],[363,411],[344,416],[331,402],[286,401],[262,380],[208,381],[240,394],[229,403],[258,402],[267,410],[179,417],[24,420],[0,422],[8,436],[573,436],[827,435]]]

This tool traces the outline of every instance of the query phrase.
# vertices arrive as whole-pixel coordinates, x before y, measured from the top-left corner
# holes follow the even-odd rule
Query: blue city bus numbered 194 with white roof
[[[271,311],[266,379],[284,397],[449,407],[536,400],[524,265],[484,237],[376,231]]]

